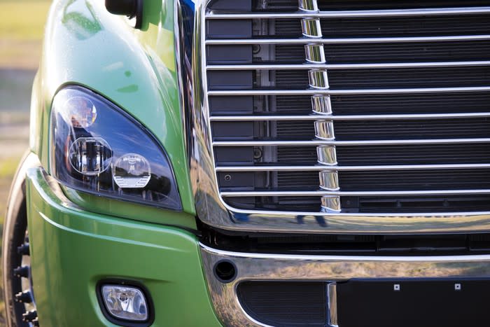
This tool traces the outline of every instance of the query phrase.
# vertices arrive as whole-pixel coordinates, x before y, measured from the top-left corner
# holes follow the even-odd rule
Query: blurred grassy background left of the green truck
[[[44,24],[50,3],[51,1],[48,0],[0,0],[0,227],[2,228],[8,189],[15,168],[29,142],[31,86],[41,56]],[[0,326],[4,326],[3,293],[0,293],[0,301]]]

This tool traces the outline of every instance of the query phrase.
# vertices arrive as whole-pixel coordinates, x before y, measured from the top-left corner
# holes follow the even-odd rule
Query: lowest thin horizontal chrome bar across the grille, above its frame
[[[333,190],[242,190],[221,192],[222,197],[311,197],[335,195],[343,197],[371,196],[410,196],[410,195],[471,195],[490,194],[490,189],[482,190],[365,190],[365,191],[333,191]]]

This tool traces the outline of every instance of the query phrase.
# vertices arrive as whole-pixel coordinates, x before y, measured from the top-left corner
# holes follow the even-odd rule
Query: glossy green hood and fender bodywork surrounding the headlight
[[[161,223],[195,228],[176,74],[174,1],[146,0],[141,31],[133,29],[126,18],[108,13],[104,1],[52,4],[31,106],[31,151],[46,169],[50,167],[52,98],[71,84],[104,95],[155,135],[169,155],[188,215],[179,216],[179,221],[165,210],[83,194],[72,200],[90,211],[147,221],[165,216]]]

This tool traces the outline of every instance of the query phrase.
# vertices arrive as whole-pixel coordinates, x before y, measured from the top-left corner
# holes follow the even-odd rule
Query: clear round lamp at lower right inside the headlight
[[[113,179],[120,188],[144,188],[151,179],[150,162],[137,153],[127,153],[114,164]]]

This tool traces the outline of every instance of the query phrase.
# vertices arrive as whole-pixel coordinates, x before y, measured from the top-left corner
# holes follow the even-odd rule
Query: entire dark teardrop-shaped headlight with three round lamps
[[[51,174],[65,186],[181,210],[162,146],[123,110],[83,88],[57,93],[51,113]]]

